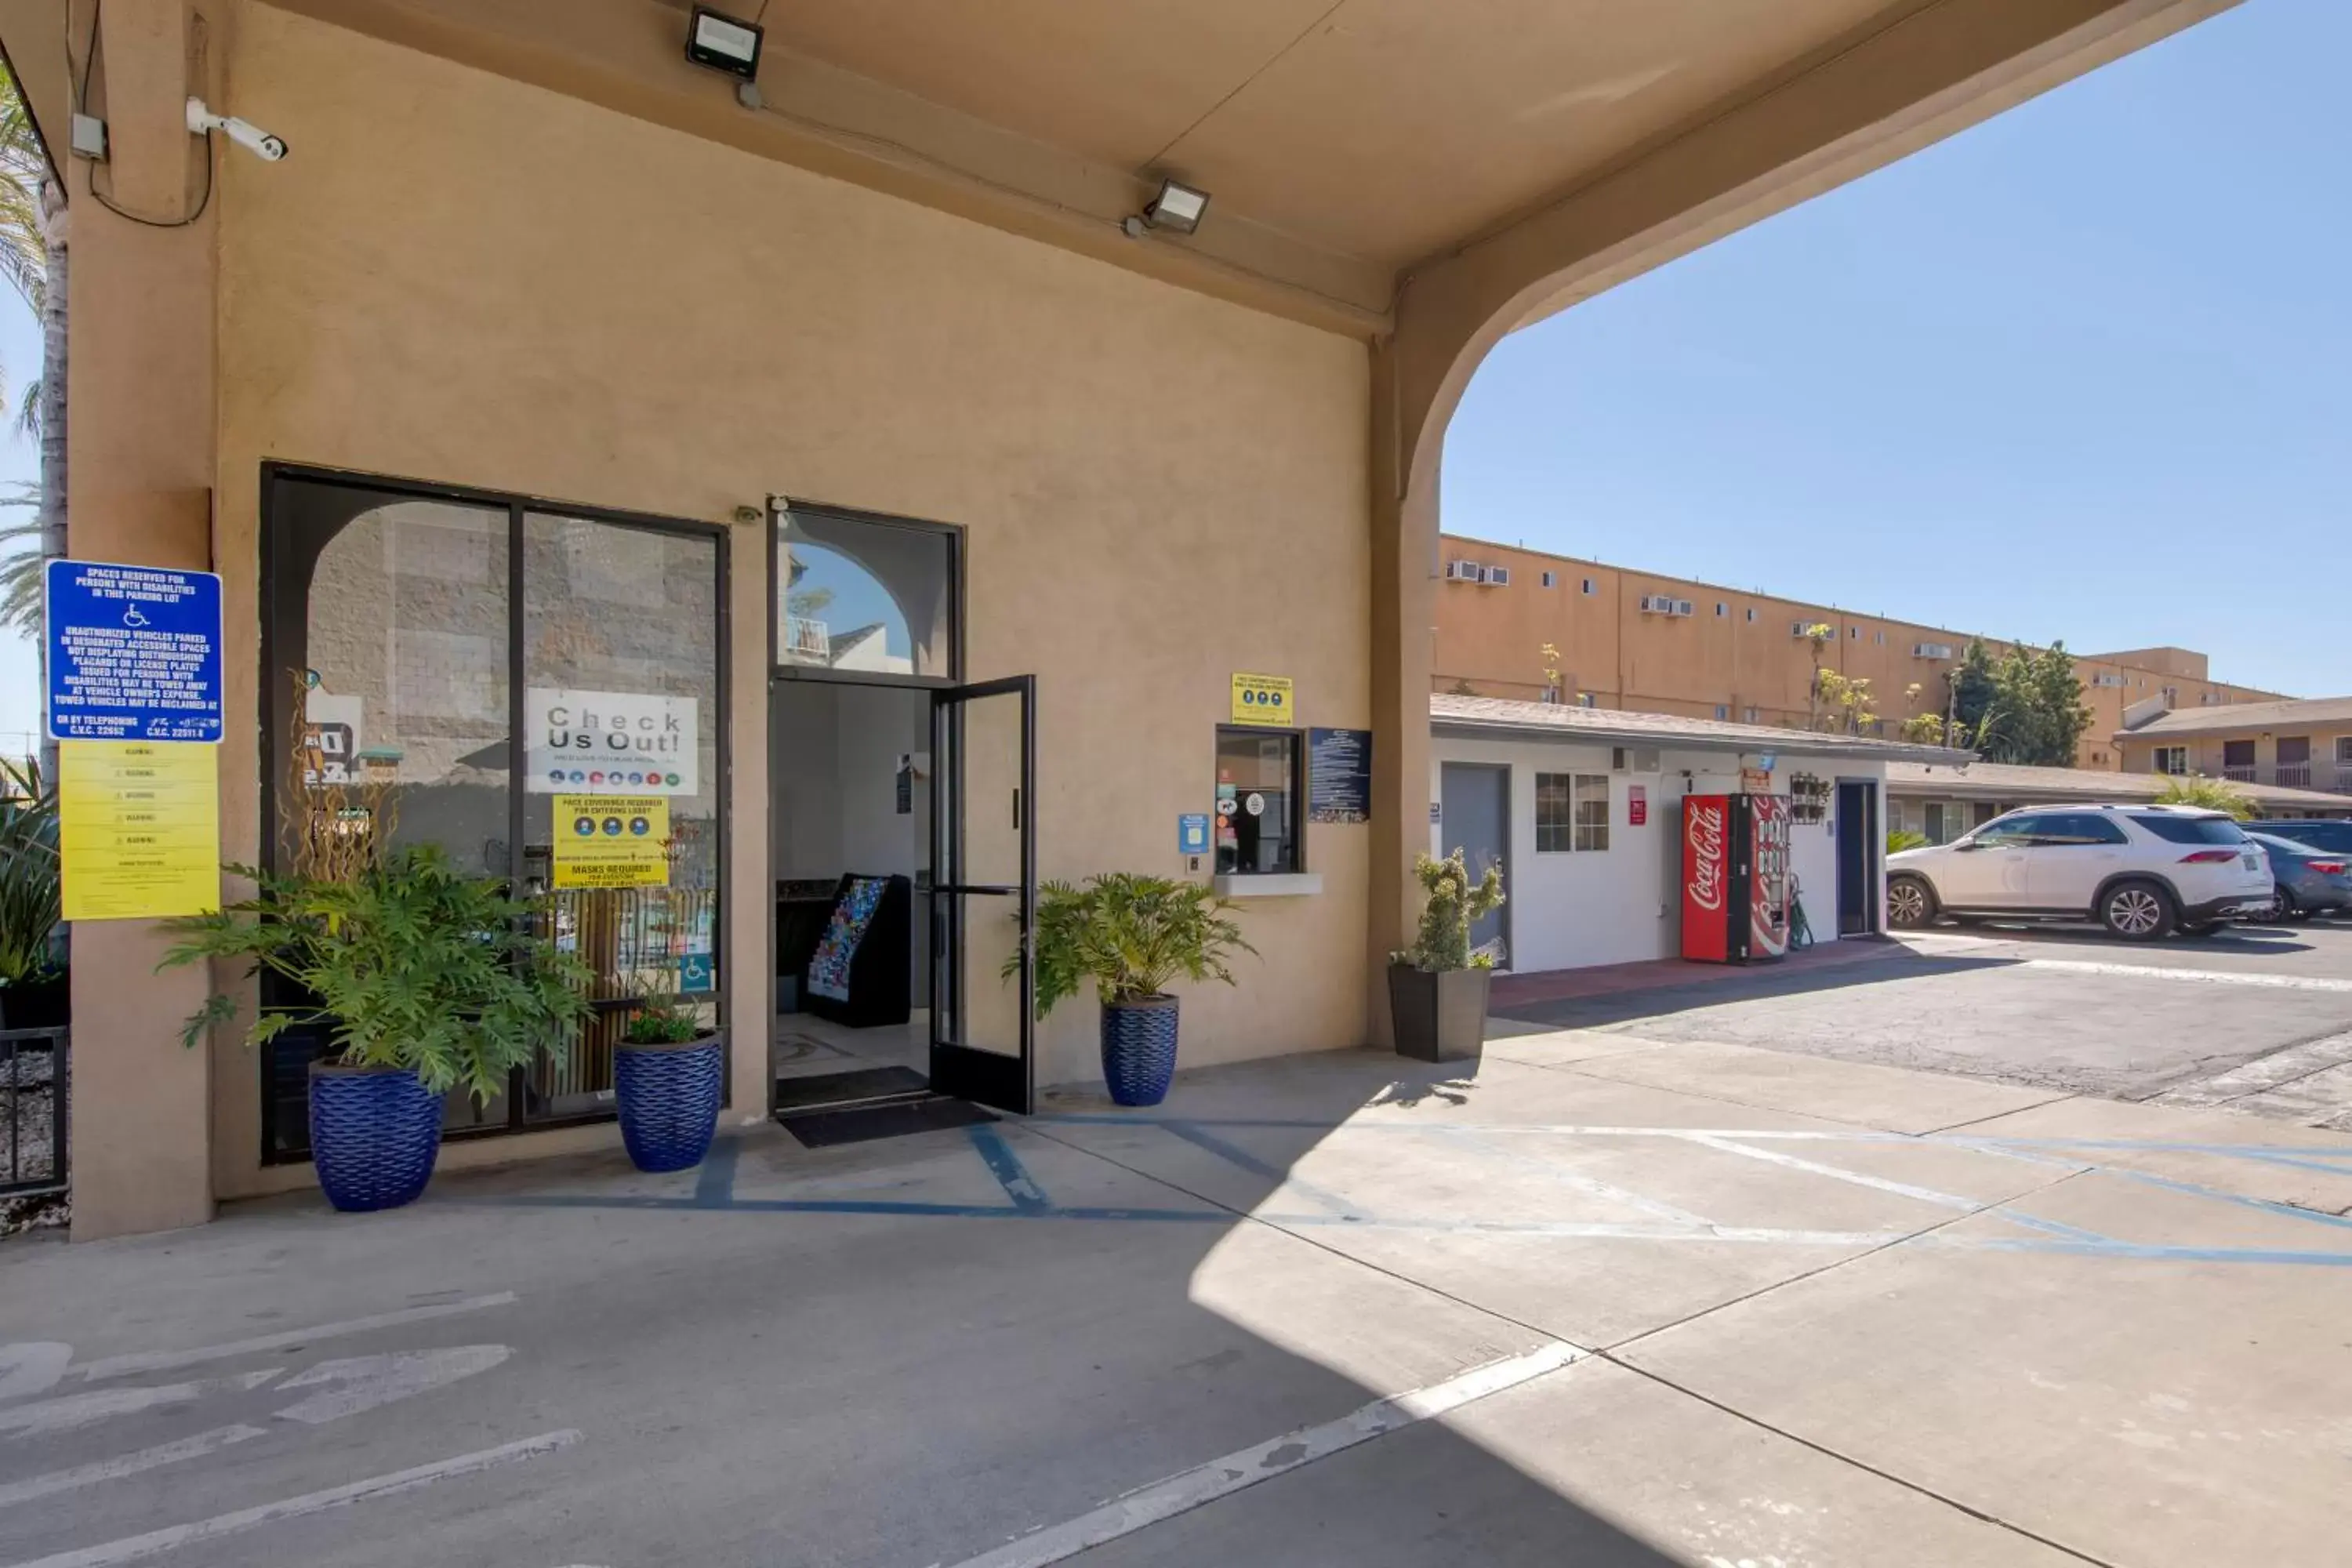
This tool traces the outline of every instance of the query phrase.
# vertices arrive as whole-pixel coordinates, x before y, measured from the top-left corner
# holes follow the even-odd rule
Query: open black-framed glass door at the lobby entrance
[[[1037,729],[1030,675],[931,693],[931,1091],[1035,1091]]]

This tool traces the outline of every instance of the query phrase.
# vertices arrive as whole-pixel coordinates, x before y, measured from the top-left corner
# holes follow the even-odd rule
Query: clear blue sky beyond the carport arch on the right
[[[2352,691],[2345,59],[2249,0],[1508,339],[1444,527]]]

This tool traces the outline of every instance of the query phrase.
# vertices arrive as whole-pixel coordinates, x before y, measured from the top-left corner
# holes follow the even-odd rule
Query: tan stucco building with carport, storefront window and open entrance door
[[[913,893],[882,1056],[934,1088],[1096,1074],[1091,1004],[1030,1041],[995,961],[1023,884],[1115,867],[1244,896],[1188,1065],[1378,1041],[1484,353],[2218,9],[779,5],[755,92],[668,0],[0,0],[0,42],[73,212],[71,552],[226,585],[223,858],[334,731],[529,889],[602,788],[550,748],[675,724],[630,773],[668,882],[550,919],[616,994],[691,990],[757,1119],[868,1039],[807,1011],[863,971],[786,952],[844,877]],[[1127,223],[1164,174],[1197,233]],[[1308,809],[1310,729],[1371,736],[1362,820]],[[1268,820],[1181,856],[1228,785]],[[80,1237],[310,1180],[306,1058],[183,1051],[207,976],[162,947],[75,931]],[[612,1143],[597,1025],[442,1164]]]

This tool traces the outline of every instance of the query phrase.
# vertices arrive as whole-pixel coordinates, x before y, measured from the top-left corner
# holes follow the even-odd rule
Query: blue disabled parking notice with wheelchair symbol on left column
[[[49,562],[52,741],[221,738],[221,578]]]

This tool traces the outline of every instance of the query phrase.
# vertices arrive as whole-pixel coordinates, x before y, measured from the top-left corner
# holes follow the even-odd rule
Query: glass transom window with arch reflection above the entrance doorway
[[[776,663],[854,675],[955,675],[948,529],[776,512]]]

